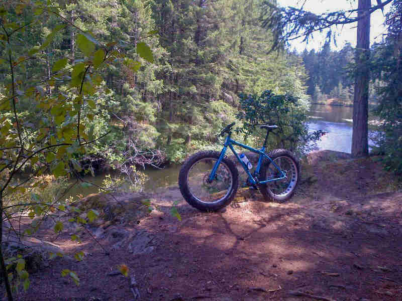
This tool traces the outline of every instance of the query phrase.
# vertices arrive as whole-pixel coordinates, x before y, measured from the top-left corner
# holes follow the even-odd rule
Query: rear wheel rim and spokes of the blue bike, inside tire
[[[292,194],[297,183],[297,166],[296,163],[287,156],[275,158],[273,162],[285,173],[283,180],[277,180],[267,183],[271,194],[278,199],[285,199]],[[270,163],[267,169],[267,178],[279,178],[280,173],[275,166]]]

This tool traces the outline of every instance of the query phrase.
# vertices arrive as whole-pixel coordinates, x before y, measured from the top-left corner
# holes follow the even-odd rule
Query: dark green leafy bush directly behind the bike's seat
[[[309,132],[306,109],[298,99],[285,94],[275,95],[270,90],[261,95],[240,95],[242,111],[237,117],[243,121],[243,132],[257,135],[257,144],[261,145],[266,134],[259,129],[260,124],[276,124],[277,130],[270,134],[269,147],[286,148],[298,154],[304,154],[324,134],[322,130]]]

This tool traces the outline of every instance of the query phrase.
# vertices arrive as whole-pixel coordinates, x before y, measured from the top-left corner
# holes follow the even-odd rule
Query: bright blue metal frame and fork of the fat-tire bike
[[[256,178],[254,178],[253,175],[251,175],[251,173],[250,173],[249,169],[247,168],[247,166],[244,164],[244,162],[240,159],[239,155],[236,153],[236,150],[234,149],[233,145],[240,146],[240,147],[242,147],[242,148],[245,148],[245,149],[247,149],[247,150],[250,150],[250,151],[253,152],[253,153],[256,153],[256,154],[259,154],[259,155],[260,155],[259,158],[258,158],[257,167],[256,167],[256,169],[255,169],[255,176],[256,176]],[[229,133],[228,136],[227,136],[226,139],[225,139],[225,144],[224,144],[224,146],[223,146],[223,148],[222,148],[221,155],[219,156],[219,159],[218,159],[218,161],[215,163],[215,166],[214,166],[214,168],[212,169],[212,172],[211,172],[211,174],[210,174],[209,180],[210,180],[211,182],[212,182],[212,181],[214,180],[214,178],[215,178],[216,171],[218,170],[218,167],[219,167],[219,165],[221,164],[222,159],[225,157],[226,150],[228,149],[228,147],[232,150],[232,152],[233,152],[233,154],[235,155],[237,161],[239,161],[239,163],[242,165],[244,171],[247,173],[251,184],[253,184],[253,185],[255,185],[255,184],[265,184],[265,183],[268,183],[268,182],[283,180],[283,179],[286,178],[285,173],[275,164],[275,162],[272,161],[271,158],[269,158],[269,156],[267,156],[267,155],[265,154],[265,149],[266,149],[265,146],[262,146],[260,149],[255,149],[255,148],[253,148],[253,147],[250,147],[250,146],[248,146],[248,145],[245,145],[245,144],[243,144],[243,143],[240,143],[240,142],[237,142],[237,141],[233,140],[233,139],[230,137],[230,133]],[[273,166],[280,172],[280,177],[279,177],[279,178],[274,178],[274,179],[268,179],[268,178],[267,178],[267,179],[265,179],[264,181],[259,181],[259,180],[258,180],[258,175],[259,175],[259,173],[260,173],[260,169],[261,169],[261,165],[262,165],[263,158],[266,158],[267,160],[269,160],[269,161],[273,164]]]

